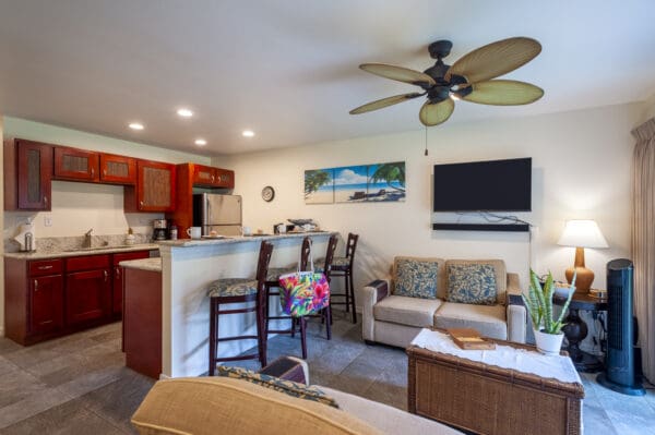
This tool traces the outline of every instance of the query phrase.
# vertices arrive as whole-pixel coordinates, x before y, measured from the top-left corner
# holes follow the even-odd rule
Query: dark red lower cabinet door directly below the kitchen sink
[[[66,322],[75,325],[102,319],[111,313],[111,281],[108,269],[67,275]]]

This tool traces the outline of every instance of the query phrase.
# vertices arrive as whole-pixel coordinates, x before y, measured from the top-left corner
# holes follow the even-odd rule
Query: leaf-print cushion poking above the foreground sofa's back
[[[218,366],[218,376],[243,379],[299,399],[317,401],[330,407],[338,408],[336,401],[330,396],[326,396],[320,388],[295,383],[293,380],[284,380],[279,377],[255,373],[246,368],[226,367],[224,365]]]

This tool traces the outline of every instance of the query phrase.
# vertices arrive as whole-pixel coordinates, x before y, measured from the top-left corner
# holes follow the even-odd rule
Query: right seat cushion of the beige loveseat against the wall
[[[484,337],[508,339],[505,307],[503,305],[472,305],[444,302],[434,313],[438,328],[474,328]]]

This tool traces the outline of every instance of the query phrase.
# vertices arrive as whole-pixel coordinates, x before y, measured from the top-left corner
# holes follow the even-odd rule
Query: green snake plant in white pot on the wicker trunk
[[[527,295],[521,294],[523,303],[529,312],[529,317],[533,323],[535,340],[537,341],[537,350],[545,354],[559,354],[562,347],[562,323],[571,298],[575,289],[575,275],[571,281],[571,288],[567,302],[562,306],[562,311],[557,319],[552,314],[552,295],[555,294],[555,281],[552,274],[548,273],[546,282],[541,286],[539,277],[534,270],[529,270],[529,290]]]

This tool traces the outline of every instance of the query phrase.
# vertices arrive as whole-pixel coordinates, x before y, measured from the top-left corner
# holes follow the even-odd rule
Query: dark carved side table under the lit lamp
[[[552,303],[562,306],[567,298],[555,294]],[[587,293],[573,293],[569,304],[569,315],[565,318],[567,325],[562,328],[564,337],[569,341],[569,355],[579,372],[596,373],[604,368],[603,361],[596,355],[580,349],[580,342],[588,334],[586,323],[580,317],[580,310],[597,312],[607,311],[607,299],[594,298]]]

